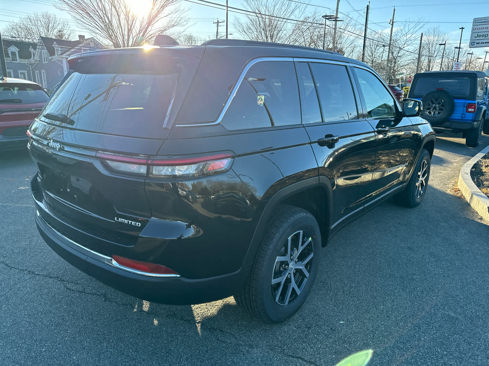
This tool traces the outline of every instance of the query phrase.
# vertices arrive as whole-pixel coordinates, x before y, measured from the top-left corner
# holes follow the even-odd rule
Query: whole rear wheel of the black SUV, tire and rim
[[[279,206],[267,226],[250,278],[234,299],[251,316],[276,324],[306,301],[319,267],[321,234],[310,212],[289,205]]]

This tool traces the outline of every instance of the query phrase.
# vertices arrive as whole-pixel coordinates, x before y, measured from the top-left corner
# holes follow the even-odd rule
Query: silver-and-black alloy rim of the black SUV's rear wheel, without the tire
[[[296,231],[280,248],[271,279],[271,291],[278,305],[289,305],[304,289],[311,270],[314,251],[312,238]]]

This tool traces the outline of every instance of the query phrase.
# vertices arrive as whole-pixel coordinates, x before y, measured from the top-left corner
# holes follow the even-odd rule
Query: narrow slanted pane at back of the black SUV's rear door
[[[307,62],[297,62],[297,80],[301,94],[302,123],[322,122],[316,88]]]

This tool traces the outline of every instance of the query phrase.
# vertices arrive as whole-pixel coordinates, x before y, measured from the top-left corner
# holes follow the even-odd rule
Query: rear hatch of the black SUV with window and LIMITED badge
[[[67,80],[30,126],[44,221],[101,253],[132,246],[151,217],[146,162],[168,135],[202,47],[71,58]]]

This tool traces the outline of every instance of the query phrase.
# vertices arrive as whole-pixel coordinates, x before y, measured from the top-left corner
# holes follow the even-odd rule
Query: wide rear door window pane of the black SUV
[[[323,121],[358,119],[355,95],[346,67],[330,63],[311,62],[311,71],[321,102]]]

